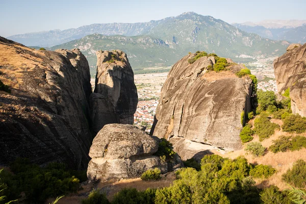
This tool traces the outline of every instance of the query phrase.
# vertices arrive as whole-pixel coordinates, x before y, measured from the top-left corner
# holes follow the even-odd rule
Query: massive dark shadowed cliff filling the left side
[[[0,164],[88,165],[90,73],[79,49],[34,50],[0,37]]]

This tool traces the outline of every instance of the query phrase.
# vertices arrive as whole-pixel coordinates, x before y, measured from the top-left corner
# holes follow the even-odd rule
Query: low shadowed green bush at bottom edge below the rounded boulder
[[[114,195],[112,204],[153,204],[155,194],[155,189],[137,191],[135,188],[125,188]]]

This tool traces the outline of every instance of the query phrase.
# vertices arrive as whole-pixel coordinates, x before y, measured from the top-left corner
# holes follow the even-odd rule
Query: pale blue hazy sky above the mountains
[[[146,22],[193,11],[228,23],[306,19],[304,0],[0,0],[0,36],[65,30],[93,23]]]

